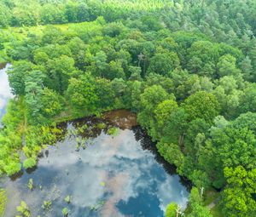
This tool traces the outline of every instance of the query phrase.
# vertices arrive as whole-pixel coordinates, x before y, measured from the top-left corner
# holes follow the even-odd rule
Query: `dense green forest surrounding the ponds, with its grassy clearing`
[[[34,167],[57,123],[127,109],[193,183],[185,216],[256,216],[255,17],[255,0],[0,0],[0,176]]]

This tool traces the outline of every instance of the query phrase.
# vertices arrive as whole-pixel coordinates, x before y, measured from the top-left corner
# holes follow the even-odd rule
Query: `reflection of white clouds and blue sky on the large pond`
[[[22,191],[22,198],[28,200],[28,204],[35,204],[33,210],[40,208],[46,198],[55,196],[55,208],[49,215],[55,217],[61,216],[56,207],[67,206],[63,202],[67,195],[73,197],[70,216],[82,216],[81,210],[83,216],[137,216],[129,203],[144,192],[160,204],[159,207],[150,202],[145,204],[145,207],[153,208],[154,213],[159,214],[157,216],[163,216],[166,204],[170,202],[183,206],[187,203],[188,192],[180,184],[179,177],[167,174],[154,159],[154,154],[143,150],[132,130],[120,130],[116,137],[102,133],[85,150],[75,151],[75,145],[76,141],[72,138],[49,147],[49,156],[39,161],[38,169],[10,184],[9,191]],[[27,189],[20,189],[29,178],[33,178],[35,183],[42,183],[44,191],[37,189],[27,193]],[[45,180],[51,180],[47,181],[47,186]],[[33,195],[33,202],[30,202],[29,195]],[[91,206],[97,206],[102,201],[98,211],[90,210]],[[123,205],[117,206],[119,202]],[[130,213],[127,214],[122,207]],[[140,211],[140,216],[144,216],[144,211]],[[7,214],[6,217],[9,216],[12,215]]]

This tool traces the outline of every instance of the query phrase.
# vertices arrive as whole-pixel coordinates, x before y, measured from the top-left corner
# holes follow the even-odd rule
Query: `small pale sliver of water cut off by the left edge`
[[[13,95],[10,92],[8,75],[6,73],[7,69],[10,67],[9,64],[3,66],[0,65],[0,126],[1,119],[5,113],[6,106],[10,98]]]

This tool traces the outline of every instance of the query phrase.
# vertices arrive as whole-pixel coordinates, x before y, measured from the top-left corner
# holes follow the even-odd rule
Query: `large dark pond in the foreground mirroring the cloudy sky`
[[[16,180],[2,180],[9,203],[6,217],[15,216],[15,207],[26,201],[32,216],[61,217],[64,207],[68,216],[163,217],[166,205],[176,202],[185,208],[189,192],[185,182],[174,174],[171,166],[155,152],[154,144],[139,127],[119,129],[115,136],[99,128],[99,121],[79,121],[89,126],[78,134],[75,125],[67,128],[65,138],[44,151],[33,172],[26,172]],[[95,126],[98,126],[97,128]],[[86,148],[77,141],[86,140]],[[79,138],[79,139],[77,139]],[[35,189],[27,183],[33,179]],[[70,195],[67,204],[64,198]],[[44,211],[44,201],[51,201]]]

